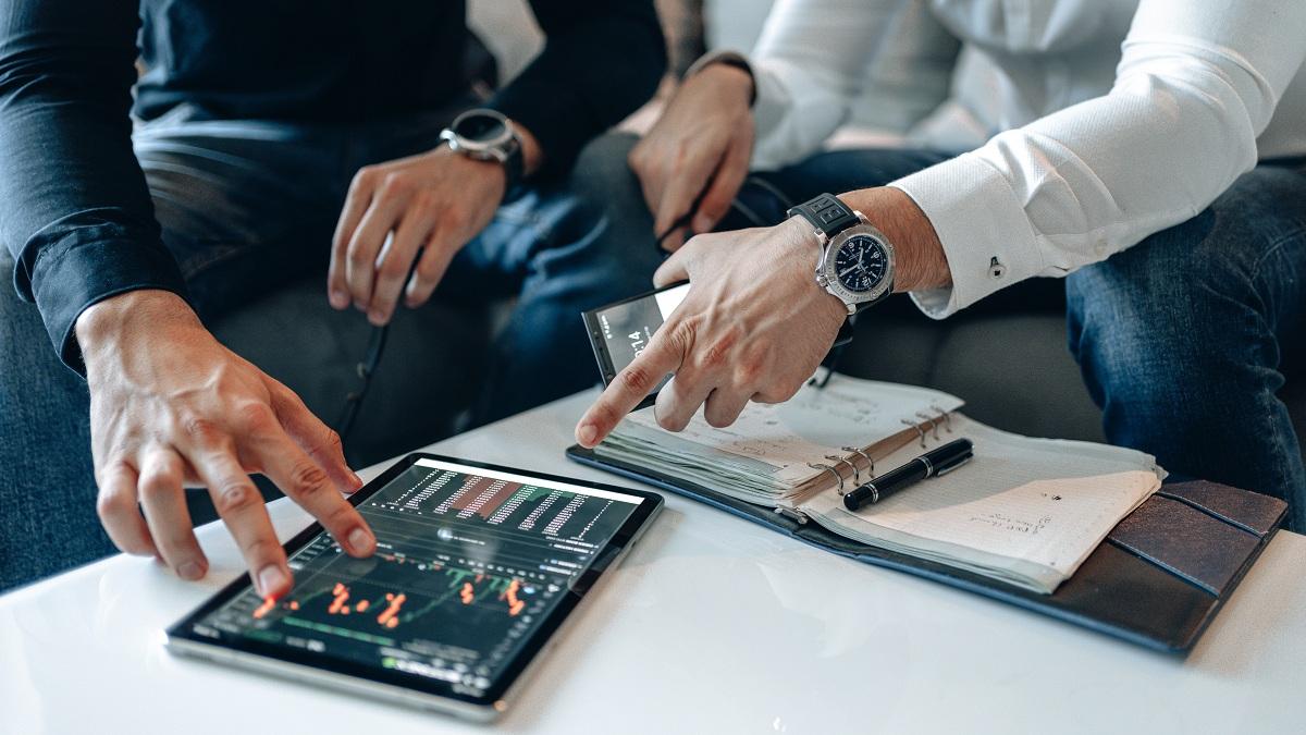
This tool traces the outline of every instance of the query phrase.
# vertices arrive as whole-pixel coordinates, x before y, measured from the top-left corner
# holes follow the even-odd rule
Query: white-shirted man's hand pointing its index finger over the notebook
[[[684,429],[700,405],[708,424],[721,428],[750,400],[789,400],[848,316],[816,285],[816,237],[801,220],[692,238],[653,276],[660,286],[688,279],[688,296],[580,420],[576,439],[586,447],[601,442],[667,373],[675,377],[654,412],[671,432]]]

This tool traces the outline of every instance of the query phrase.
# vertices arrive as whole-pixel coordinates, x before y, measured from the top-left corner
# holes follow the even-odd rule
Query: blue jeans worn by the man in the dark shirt
[[[321,277],[325,303],[330,238],[354,173],[434,148],[449,116],[307,126],[214,120],[183,106],[137,129],[165,243],[201,318],[306,276]],[[478,422],[594,385],[580,311],[650,288],[660,259],[614,237],[606,195],[632,186],[631,144],[596,141],[571,180],[500,207],[436,289],[436,301],[517,299],[492,348]],[[402,350],[392,343],[383,365]],[[95,515],[86,385],[12,288],[0,289],[0,361],[3,591],[115,549]]]

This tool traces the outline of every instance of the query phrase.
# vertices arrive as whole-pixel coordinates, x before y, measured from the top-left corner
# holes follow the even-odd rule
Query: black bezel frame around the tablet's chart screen
[[[230,662],[222,660],[222,663],[234,663],[246,668],[269,671],[278,663],[290,664],[285,667],[286,671],[283,674],[302,677],[296,676],[296,670],[303,671],[303,668],[307,667],[333,675],[330,677],[337,683],[341,683],[340,677],[346,677],[357,680],[359,687],[380,684],[387,688],[400,688],[426,694],[428,697],[449,700],[451,702],[461,702],[477,709],[487,708],[502,711],[503,698],[507,692],[521,679],[530,663],[549,645],[558,628],[572,615],[576,606],[580,604],[581,599],[585,598],[599,577],[602,577],[613,562],[632,544],[653,515],[662,507],[662,496],[648,490],[636,490],[605,483],[592,483],[589,480],[579,480],[575,477],[533,472],[516,467],[504,467],[502,464],[474,462],[439,454],[413,453],[392,464],[384,472],[377,475],[371,483],[367,483],[363,488],[350,496],[350,504],[358,506],[359,504],[367,501],[370,497],[380,492],[381,488],[387,487],[392,480],[398,477],[404,471],[413,467],[419,459],[434,459],[438,462],[464,466],[469,470],[511,472],[515,475],[534,477],[546,483],[579,485],[582,488],[622,493],[641,500],[640,505],[635,507],[622,527],[618,528],[607,544],[593,557],[592,564],[580,574],[580,577],[568,585],[567,592],[562,596],[554,609],[550,611],[550,613],[539,623],[530,636],[526,637],[521,651],[511,662],[508,662],[499,677],[494,680],[481,696],[460,692],[457,685],[449,681],[430,679],[417,674],[406,674],[392,668],[381,668],[380,666],[355,663],[303,649],[291,649],[283,645],[266,643],[252,638],[232,636],[221,630],[218,630],[217,638],[195,633],[193,628],[197,623],[225,606],[236,595],[244,592],[251,586],[252,582],[248,572],[234,579],[230,585],[205,600],[200,607],[170,626],[167,629],[168,642],[182,642],[182,645],[178,646],[182,653],[193,653],[191,651],[193,646],[204,646],[208,649],[239,654],[232,657]],[[312,539],[315,539],[321,531],[321,523],[312,523],[283,544],[286,555],[289,556],[295,553],[302,547],[312,541]],[[249,657],[263,660],[256,667],[248,667],[240,659],[247,659]],[[451,708],[451,711],[457,711],[458,709],[465,708]]]

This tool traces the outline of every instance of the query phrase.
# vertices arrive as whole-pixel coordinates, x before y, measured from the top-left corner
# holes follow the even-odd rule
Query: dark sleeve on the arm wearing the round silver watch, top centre
[[[545,173],[646,102],[666,71],[653,0],[532,0],[545,48],[490,106],[529,129]]]

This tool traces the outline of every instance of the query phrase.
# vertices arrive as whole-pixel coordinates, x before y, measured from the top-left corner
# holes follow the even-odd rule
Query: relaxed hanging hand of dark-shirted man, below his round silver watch
[[[444,146],[360,169],[336,225],[326,276],[330,305],[353,302],[381,326],[394,314],[400,292],[410,309],[426,303],[458,250],[490,224],[505,186],[498,162]]]

